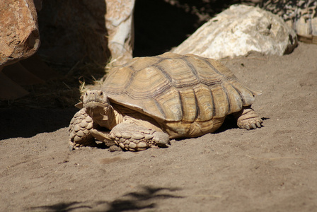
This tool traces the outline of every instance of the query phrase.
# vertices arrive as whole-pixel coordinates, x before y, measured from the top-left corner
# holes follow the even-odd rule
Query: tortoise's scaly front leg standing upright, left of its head
[[[74,114],[69,124],[69,149],[81,146],[95,146],[96,142],[90,133],[93,128],[93,119],[86,114],[85,109]]]

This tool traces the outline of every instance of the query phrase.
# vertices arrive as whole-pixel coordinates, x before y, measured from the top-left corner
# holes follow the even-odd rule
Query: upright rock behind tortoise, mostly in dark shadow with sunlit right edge
[[[72,67],[132,59],[134,0],[49,0],[39,13],[40,56]]]

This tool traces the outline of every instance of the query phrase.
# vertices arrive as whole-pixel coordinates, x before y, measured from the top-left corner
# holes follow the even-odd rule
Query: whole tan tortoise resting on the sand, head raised
[[[243,129],[262,119],[250,107],[259,95],[219,61],[167,52],[136,57],[110,70],[100,90],[88,90],[69,125],[70,148],[94,139],[127,151],[166,147],[170,139],[211,133],[234,114]]]

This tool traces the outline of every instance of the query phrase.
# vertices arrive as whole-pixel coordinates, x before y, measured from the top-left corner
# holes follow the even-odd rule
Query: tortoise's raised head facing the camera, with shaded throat
[[[112,107],[108,96],[102,90],[87,90],[82,98],[83,107],[93,119],[108,120],[108,112]]]

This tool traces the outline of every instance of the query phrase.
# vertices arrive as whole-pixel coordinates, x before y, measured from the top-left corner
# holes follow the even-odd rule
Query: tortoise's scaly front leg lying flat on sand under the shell
[[[125,122],[110,131],[110,138],[128,151],[142,151],[153,146],[167,147],[167,144],[171,144],[168,134],[163,131]]]

